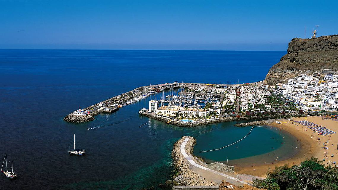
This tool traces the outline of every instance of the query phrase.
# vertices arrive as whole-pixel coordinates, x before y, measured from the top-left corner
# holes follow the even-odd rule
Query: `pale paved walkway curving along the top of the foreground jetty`
[[[189,137],[186,137],[183,141],[183,143],[180,146],[180,152],[181,154],[184,156],[184,158],[192,165],[192,169],[200,174],[203,178],[205,178],[208,181],[214,181],[216,183],[220,183],[222,180],[225,180],[231,184],[234,185],[243,185],[243,184],[247,184],[246,182],[242,181],[241,179],[232,177],[230,175],[209,169],[207,167],[201,166],[199,164],[197,164],[195,161],[193,161],[188,154],[185,151],[185,147],[186,144],[189,140]]]

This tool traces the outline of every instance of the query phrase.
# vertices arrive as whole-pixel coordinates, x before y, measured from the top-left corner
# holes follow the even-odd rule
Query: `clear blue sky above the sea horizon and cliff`
[[[280,50],[338,34],[338,1],[0,0],[0,49]]]

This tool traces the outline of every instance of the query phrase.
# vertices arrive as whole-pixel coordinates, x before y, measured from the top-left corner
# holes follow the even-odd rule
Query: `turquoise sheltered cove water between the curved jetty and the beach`
[[[295,148],[300,147],[298,140],[279,128],[255,127],[245,137],[251,127],[235,127],[234,124],[235,122],[227,122],[213,125],[213,130],[195,137],[194,155],[208,163],[215,161],[226,163],[228,159],[229,164],[247,166],[254,163],[271,163],[274,159],[287,159],[299,151]],[[245,137],[243,140],[237,142],[243,137]],[[220,150],[202,152],[218,149],[234,142],[237,143]]]

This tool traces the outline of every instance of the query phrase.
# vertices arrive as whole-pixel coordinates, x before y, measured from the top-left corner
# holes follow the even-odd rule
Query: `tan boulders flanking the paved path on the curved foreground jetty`
[[[184,158],[182,153],[180,152],[180,146],[182,145],[184,139],[187,136],[182,137],[174,144],[174,148],[172,151],[172,158],[174,161],[174,166],[177,170],[177,175],[174,176],[174,180],[169,180],[168,183],[172,183],[174,185],[180,186],[215,186],[219,185],[215,182],[210,182],[204,179],[201,175],[191,170],[191,166],[188,161]],[[234,172],[234,166],[226,166],[223,163],[215,162],[211,164],[207,164],[197,157],[192,155],[193,146],[195,144],[195,139],[193,137],[189,137],[189,140],[185,146],[185,151],[188,156],[196,163],[203,165],[205,167],[209,167],[210,169],[214,169],[217,171],[229,171]]]

